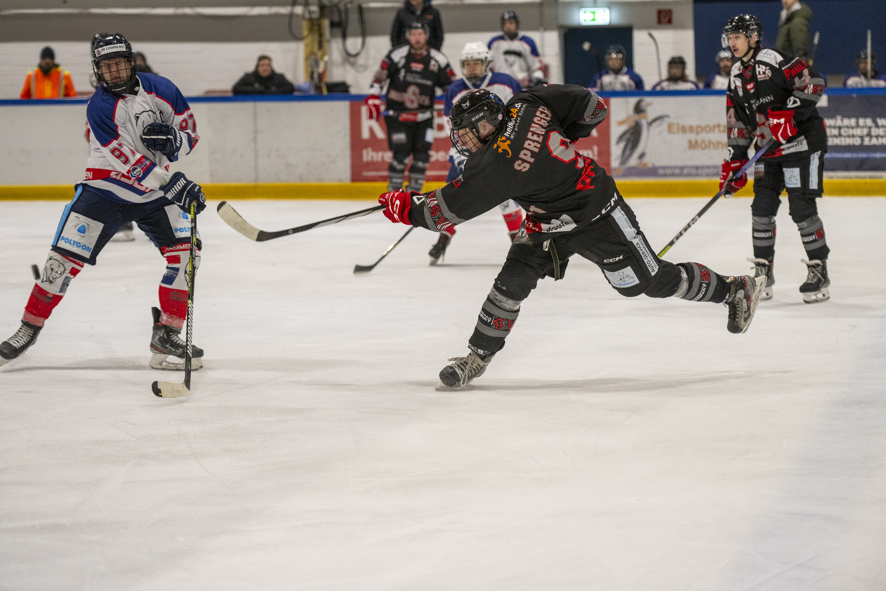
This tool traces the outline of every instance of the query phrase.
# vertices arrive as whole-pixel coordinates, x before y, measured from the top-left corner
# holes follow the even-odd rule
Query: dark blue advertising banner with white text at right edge
[[[827,100],[819,103],[819,113],[828,128],[825,171],[886,170],[884,97],[826,95],[825,98]]]

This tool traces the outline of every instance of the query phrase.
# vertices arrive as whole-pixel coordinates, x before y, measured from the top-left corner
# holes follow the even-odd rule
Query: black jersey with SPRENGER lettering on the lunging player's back
[[[593,222],[618,201],[615,181],[571,144],[589,136],[606,113],[602,99],[581,86],[548,84],[517,93],[462,176],[414,198],[409,221],[442,231],[515,199],[528,214],[534,241]]]

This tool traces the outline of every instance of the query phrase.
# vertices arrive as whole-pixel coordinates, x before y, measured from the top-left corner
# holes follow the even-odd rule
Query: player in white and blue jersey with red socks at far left
[[[58,222],[43,273],[27,299],[19,330],[0,343],[0,365],[34,345],[53,308],[85,265],[127,222],[136,222],[166,259],[159,309],[152,308],[151,362],[155,369],[183,369],[167,358],[184,357],[179,337],[187,315],[190,206],[198,214],[206,198],[197,183],[169,164],[197,145],[197,123],[175,84],[156,74],[136,74],[136,59],[119,34],[96,35],[92,67],[99,87],[86,117],[91,152],[85,178]],[[200,241],[197,241],[198,248]],[[198,265],[195,265],[195,268]],[[191,369],[203,367],[192,347]]]

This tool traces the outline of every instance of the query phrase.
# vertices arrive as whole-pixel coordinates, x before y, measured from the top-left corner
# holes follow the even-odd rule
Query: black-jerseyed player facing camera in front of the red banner
[[[408,45],[388,52],[369,87],[366,106],[369,119],[381,113],[382,89],[387,83],[385,115],[388,148],[393,152],[388,165],[388,191],[400,191],[409,155],[409,190],[422,191],[424,174],[434,141],[435,87],[444,91],[456,78],[447,57],[428,46],[428,26],[416,21],[407,34]]]

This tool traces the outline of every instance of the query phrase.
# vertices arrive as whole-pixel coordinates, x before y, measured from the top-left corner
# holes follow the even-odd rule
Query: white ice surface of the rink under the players
[[[704,199],[631,199],[660,248]],[[826,198],[831,300],[804,305],[779,215],[775,297],[626,299],[572,259],[462,392],[509,247],[492,212],[435,235],[381,214],[253,243],[200,215],[190,397],[148,369],[164,261],[110,244],[37,344],[0,369],[0,589],[886,588],[884,198]],[[369,206],[241,201],[262,229]],[[19,325],[63,204],[0,203],[0,338]],[[750,200],[666,257],[750,263]]]

